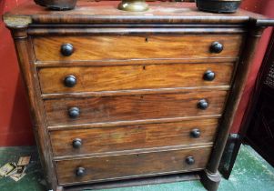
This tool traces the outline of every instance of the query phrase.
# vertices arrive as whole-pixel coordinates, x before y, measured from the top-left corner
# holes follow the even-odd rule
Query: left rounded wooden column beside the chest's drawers
[[[36,66],[34,65],[34,54],[31,50],[31,41],[27,37],[26,28],[11,28],[15,42],[18,64],[25,83],[27,100],[30,114],[32,116],[33,131],[36,137],[38,152],[41,156],[41,165],[45,172],[46,187],[53,189],[57,185],[55,166],[52,163],[52,150],[49,135],[46,130],[45,112],[41,110],[43,103],[39,91],[39,83],[36,80]]]

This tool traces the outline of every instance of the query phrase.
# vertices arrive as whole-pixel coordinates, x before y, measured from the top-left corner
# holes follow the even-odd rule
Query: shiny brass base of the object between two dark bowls
[[[118,5],[118,9],[123,11],[142,12],[148,10],[145,0],[122,0]]]

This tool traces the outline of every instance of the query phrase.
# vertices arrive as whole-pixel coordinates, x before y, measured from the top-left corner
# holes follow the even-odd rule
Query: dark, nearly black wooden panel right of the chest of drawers
[[[245,126],[241,127],[240,133],[246,136],[250,146],[260,156],[274,166],[274,33],[253,92],[245,116]]]

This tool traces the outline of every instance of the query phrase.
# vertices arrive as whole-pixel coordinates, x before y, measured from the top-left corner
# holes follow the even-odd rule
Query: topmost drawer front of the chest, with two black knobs
[[[36,61],[237,57],[242,38],[241,35],[36,36],[33,45]],[[214,42],[223,45],[220,53],[210,48]]]

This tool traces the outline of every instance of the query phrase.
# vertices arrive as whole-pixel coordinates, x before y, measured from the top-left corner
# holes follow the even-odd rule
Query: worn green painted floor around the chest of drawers
[[[45,180],[36,152],[36,146],[0,147],[0,166],[16,162],[19,156],[32,156],[26,176],[15,182],[9,177],[0,179],[0,191],[44,191]],[[188,181],[151,186],[136,186],[104,191],[204,191],[199,181]],[[274,168],[251,147],[241,146],[229,180],[222,179],[218,190],[274,191]]]

